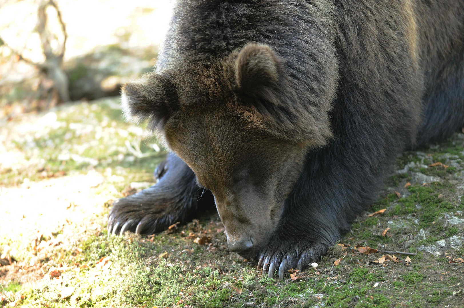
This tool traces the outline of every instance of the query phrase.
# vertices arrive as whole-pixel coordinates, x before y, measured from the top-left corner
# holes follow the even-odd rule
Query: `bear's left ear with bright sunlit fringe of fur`
[[[177,105],[176,89],[168,75],[150,73],[121,89],[122,111],[127,119],[149,119],[150,130],[162,129]]]

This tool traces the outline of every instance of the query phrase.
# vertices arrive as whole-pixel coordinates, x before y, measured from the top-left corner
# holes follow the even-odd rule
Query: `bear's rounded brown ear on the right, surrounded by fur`
[[[280,61],[268,45],[247,44],[235,60],[235,77],[240,91],[251,96],[273,88],[279,80]]]

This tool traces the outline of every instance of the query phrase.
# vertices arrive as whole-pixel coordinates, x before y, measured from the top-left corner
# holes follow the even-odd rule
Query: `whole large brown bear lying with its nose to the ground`
[[[122,105],[170,154],[109,232],[215,205],[229,250],[282,278],[349,230],[400,151],[464,125],[464,0],[178,0]]]

